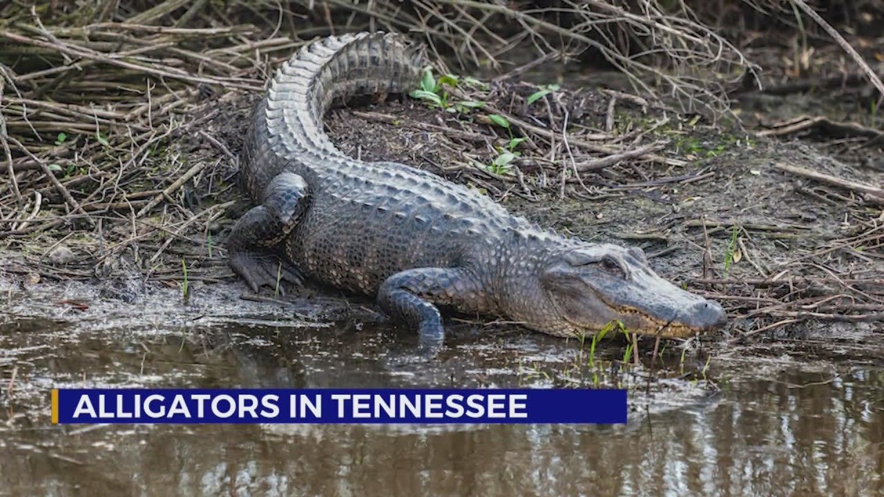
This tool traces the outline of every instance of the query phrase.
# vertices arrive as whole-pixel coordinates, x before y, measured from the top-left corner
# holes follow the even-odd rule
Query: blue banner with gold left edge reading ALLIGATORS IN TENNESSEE
[[[613,389],[56,389],[57,424],[622,424]]]

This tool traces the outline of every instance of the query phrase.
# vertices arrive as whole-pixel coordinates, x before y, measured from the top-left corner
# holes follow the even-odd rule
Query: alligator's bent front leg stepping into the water
[[[461,268],[425,267],[397,272],[377,291],[381,309],[416,328],[426,353],[438,351],[445,339],[437,305],[470,311],[482,310],[483,302],[476,279]]]

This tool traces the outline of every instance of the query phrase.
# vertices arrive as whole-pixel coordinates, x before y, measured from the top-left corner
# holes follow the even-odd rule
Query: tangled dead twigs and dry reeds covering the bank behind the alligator
[[[884,320],[881,174],[819,156],[749,165],[756,134],[707,118],[727,116],[729,98],[763,93],[751,86],[739,93],[755,66],[687,7],[629,4],[7,4],[0,258],[11,264],[4,271],[31,279],[127,273],[170,286],[231,279],[217,245],[239,214],[236,156],[270,69],[317,35],[395,29],[427,42],[437,68],[424,90],[439,102],[427,96],[335,114],[331,131],[354,137],[341,143],[347,152],[422,165],[498,200],[517,197],[530,203],[526,210],[632,202],[630,214],[659,226],[632,229],[621,214],[622,242],[663,260],[683,252],[673,259],[682,269],[669,275],[726,303],[741,336],[807,320]],[[808,47],[797,65],[816,60]],[[574,91],[567,79],[560,89],[553,77],[545,86],[514,82],[587,54],[629,74],[633,89]],[[878,66],[839,60],[843,78],[873,88],[865,69]],[[469,73],[464,67],[499,76],[441,77]],[[816,77],[807,68],[779,74],[781,88]],[[690,112],[697,109],[706,117]],[[371,126],[347,128],[341,119],[384,126],[374,136],[397,139],[375,146]],[[880,153],[880,117],[857,120],[804,116],[760,134],[823,135],[835,154]],[[777,180],[752,181],[772,169],[768,177]],[[802,202],[816,218],[801,219]],[[793,214],[798,220],[787,219]],[[593,226],[565,229],[585,236]]]

